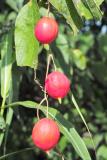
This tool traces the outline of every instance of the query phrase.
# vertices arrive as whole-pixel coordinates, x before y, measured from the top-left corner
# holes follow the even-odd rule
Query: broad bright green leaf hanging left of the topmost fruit
[[[15,23],[15,47],[18,66],[34,67],[37,64],[39,43],[34,27],[39,19],[37,2],[30,0],[19,12]]]

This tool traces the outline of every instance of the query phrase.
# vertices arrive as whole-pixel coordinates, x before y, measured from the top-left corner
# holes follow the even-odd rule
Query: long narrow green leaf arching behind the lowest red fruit
[[[23,102],[15,102],[12,104],[7,105],[6,107],[14,107],[17,105],[21,105],[27,108],[38,108],[40,109],[45,115],[47,114],[47,107],[40,106],[32,101],[23,101]],[[78,135],[77,131],[73,128],[72,124],[65,120],[63,116],[54,108],[49,107],[49,116],[55,119],[60,127],[60,131],[62,134],[68,139],[70,143],[72,143],[73,147],[75,148],[76,152],[83,160],[91,160],[89,152],[85,146],[84,141]]]

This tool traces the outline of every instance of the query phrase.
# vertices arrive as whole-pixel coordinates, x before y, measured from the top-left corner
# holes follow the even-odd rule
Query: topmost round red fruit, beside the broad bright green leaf
[[[58,24],[53,18],[43,17],[36,24],[34,33],[39,42],[49,44],[58,35]]]

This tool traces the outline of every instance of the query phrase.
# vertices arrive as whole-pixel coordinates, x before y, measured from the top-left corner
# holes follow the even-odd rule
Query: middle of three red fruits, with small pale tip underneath
[[[65,74],[54,71],[45,80],[47,93],[55,99],[64,98],[70,90],[70,81]]]

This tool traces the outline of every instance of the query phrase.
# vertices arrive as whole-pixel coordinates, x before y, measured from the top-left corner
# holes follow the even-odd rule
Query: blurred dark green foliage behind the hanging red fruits
[[[23,0],[1,0],[0,1],[0,48],[6,41],[6,35],[10,30],[14,30],[14,23],[20,8],[26,4]],[[41,16],[46,14],[47,5],[45,2],[39,3]],[[80,110],[93,135],[98,160],[107,160],[107,1],[100,6],[104,12],[101,21],[86,20],[84,27],[77,35],[73,35],[71,28],[67,25],[64,17],[51,6],[51,14],[59,23],[59,36],[51,44],[51,53],[55,57],[55,62],[59,70],[63,71],[71,80],[71,91],[74,93],[79,104]],[[23,23],[23,22],[22,22]],[[23,27],[23,25],[21,25]],[[6,104],[15,101],[31,100],[39,103],[43,98],[39,86],[34,82],[34,70],[30,67],[18,67],[15,61],[15,44],[13,35],[9,33],[11,48],[8,48],[8,65],[13,63],[12,78],[10,81],[10,90]],[[9,45],[9,46],[10,46]],[[32,44],[29,44],[32,47]],[[2,60],[1,49],[1,60]],[[5,47],[4,47],[5,51]],[[40,48],[37,64],[37,77],[44,85],[46,72],[47,50]],[[29,57],[28,57],[29,58]],[[1,73],[3,72],[3,63],[0,60]],[[50,71],[53,66],[50,65]],[[8,69],[6,73],[10,72]],[[1,90],[3,93],[3,77],[1,76]],[[2,103],[2,97],[0,98]],[[92,159],[95,159],[93,145],[76,108],[71,101],[69,94],[59,105],[56,100],[49,98],[49,105],[58,109],[65,119],[73,124],[81,135],[89,149]],[[14,112],[14,113],[13,113]],[[0,155],[32,147],[31,130],[36,119],[36,111],[23,107],[14,109],[5,109],[4,119],[0,131],[6,130],[5,138],[0,147]],[[41,113],[41,117],[44,115]],[[2,119],[3,120],[3,119]],[[4,125],[4,126],[3,126]],[[1,132],[2,133],[2,132]],[[64,154],[67,160],[80,159],[72,145],[64,136],[58,144],[60,152]],[[8,157],[8,160],[58,160],[59,157],[52,151],[49,157],[35,148],[31,151],[22,152],[18,155]]]

